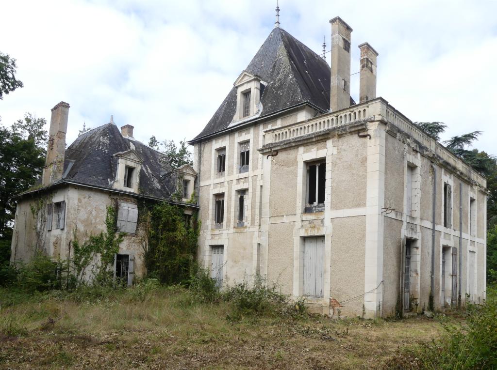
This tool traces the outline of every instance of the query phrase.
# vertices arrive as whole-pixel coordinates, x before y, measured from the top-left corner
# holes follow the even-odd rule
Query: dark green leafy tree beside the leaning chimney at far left
[[[14,196],[41,177],[45,165],[46,120],[26,114],[11,127],[0,126],[0,239],[8,239],[15,215]]]

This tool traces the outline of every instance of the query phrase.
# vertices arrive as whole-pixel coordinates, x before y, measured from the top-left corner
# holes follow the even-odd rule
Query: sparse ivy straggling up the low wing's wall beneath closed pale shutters
[[[105,233],[92,235],[83,244],[78,241],[76,231],[74,233],[72,263],[76,278],[80,281],[83,280],[88,265],[97,255],[100,257],[100,263],[94,273],[95,283],[107,284],[113,280],[113,272],[109,270],[109,266],[114,262],[115,254],[119,252],[119,244],[124,240],[124,233],[117,234],[116,209],[113,206],[107,207],[105,226]]]

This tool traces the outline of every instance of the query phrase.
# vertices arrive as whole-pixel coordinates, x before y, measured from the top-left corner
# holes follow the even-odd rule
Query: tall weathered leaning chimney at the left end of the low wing
[[[42,185],[47,186],[62,179],[64,172],[64,155],[66,153],[67,120],[69,104],[60,102],[52,108],[48,149],[45,167],[43,168]]]

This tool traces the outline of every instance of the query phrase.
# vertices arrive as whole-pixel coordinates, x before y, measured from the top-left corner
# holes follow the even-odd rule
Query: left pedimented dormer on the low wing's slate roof
[[[134,148],[115,153],[114,157],[117,157],[117,171],[112,187],[137,193],[140,187],[143,159]]]

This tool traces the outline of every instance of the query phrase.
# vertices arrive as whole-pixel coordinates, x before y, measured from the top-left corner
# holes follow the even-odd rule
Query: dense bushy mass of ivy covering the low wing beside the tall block
[[[187,282],[194,266],[197,239],[198,228],[186,228],[181,208],[167,202],[153,205],[145,254],[149,274],[166,284]]]

